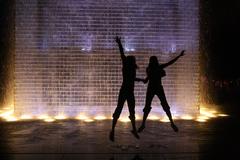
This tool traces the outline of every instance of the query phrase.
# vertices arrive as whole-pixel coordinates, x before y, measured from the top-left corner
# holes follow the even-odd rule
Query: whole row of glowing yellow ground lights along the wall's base
[[[210,109],[211,108],[211,109]],[[140,119],[141,120],[141,116],[139,116],[138,114],[135,115],[136,116],[136,120]],[[198,122],[206,122],[207,120],[211,119],[211,118],[215,118],[215,117],[226,117],[229,116],[227,114],[223,114],[220,113],[217,110],[214,110],[214,107],[212,106],[200,106],[200,113],[199,116],[197,117],[193,117],[191,115],[178,115],[177,117],[173,116],[173,119],[184,119],[184,120],[196,120]],[[2,110],[0,110],[0,117],[7,121],[7,122],[12,122],[12,121],[18,121],[18,120],[31,120],[34,118],[37,119],[42,119],[45,122],[53,122],[55,120],[62,120],[62,119],[67,119],[68,117],[64,114],[61,113],[55,117],[50,117],[47,114],[42,114],[39,115],[37,117],[32,116],[31,114],[24,114],[21,115],[19,117],[14,115],[14,110],[10,108],[4,108]],[[83,120],[85,122],[93,122],[94,120],[97,121],[101,121],[101,120],[105,120],[105,119],[112,119],[112,117],[107,117],[105,115],[96,115],[95,117],[88,117],[86,116],[84,113],[80,113],[77,117],[75,117],[78,120]],[[149,120],[160,120],[162,122],[169,122],[169,119],[167,116],[164,116],[163,118],[157,115],[150,115],[148,117]],[[128,118],[128,116],[123,115],[119,121],[127,123],[130,122],[130,119]]]

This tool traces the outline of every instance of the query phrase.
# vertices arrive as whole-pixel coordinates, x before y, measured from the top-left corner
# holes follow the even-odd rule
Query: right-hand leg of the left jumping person
[[[135,97],[134,93],[130,93],[127,97],[128,110],[129,110],[129,119],[132,123],[132,134],[139,139],[140,137],[137,134],[136,123],[135,123]]]

